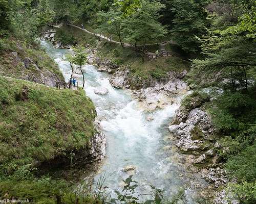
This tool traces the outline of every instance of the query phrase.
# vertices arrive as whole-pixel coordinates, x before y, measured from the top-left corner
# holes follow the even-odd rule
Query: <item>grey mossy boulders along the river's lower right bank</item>
[[[183,163],[192,172],[199,173],[209,183],[202,195],[213,198],[214,203],[238,203],[221,187],[229,181],[220,158],[222,152],[228,151],[216,141],[214,125],[206,112],[205,103],[210,96],[192,94],[188,104],[181,104],[176,111],[173,122],[168,127],[176,139],[176,146],[184,154]]]

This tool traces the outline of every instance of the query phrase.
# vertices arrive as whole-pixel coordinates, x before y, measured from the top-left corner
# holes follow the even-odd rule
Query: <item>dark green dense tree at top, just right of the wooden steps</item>
[[[201,44],[200,37],[206,32],[207,11],[205,0],[174,0],[172,11],[175,13],[172,39],[186,52],[197,52]]]

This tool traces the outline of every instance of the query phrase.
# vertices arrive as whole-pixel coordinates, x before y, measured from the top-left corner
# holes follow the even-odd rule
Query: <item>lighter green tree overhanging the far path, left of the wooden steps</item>
[[[159,11],[163,5],[156,1],[141,1],[139,8],[133,15],[124,18],[122,34],[124,39],[133,44],[138,54],[138,42],[146,42],[162,38],[166,33],[165,27],[158,22]]]

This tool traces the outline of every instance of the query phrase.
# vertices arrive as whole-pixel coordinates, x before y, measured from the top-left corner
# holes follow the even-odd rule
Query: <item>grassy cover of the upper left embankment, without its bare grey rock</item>
[[[17,53],[18,59],[12,52]],[[37,74],[38,71],[32,64],[29,68],[24,67],[23,61],[26,57],[30,58],[41,71],[49,70],[63,80],[57,64],[38,44],[29,44],[14,37],[0,39],[0,75],[23,78],[25,75]]]

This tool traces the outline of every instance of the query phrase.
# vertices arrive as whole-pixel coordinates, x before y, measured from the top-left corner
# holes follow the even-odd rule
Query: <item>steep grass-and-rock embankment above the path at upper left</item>
[[[55,86],[63,81],[58,65],[35,42],[0,39],[0,75]]]

